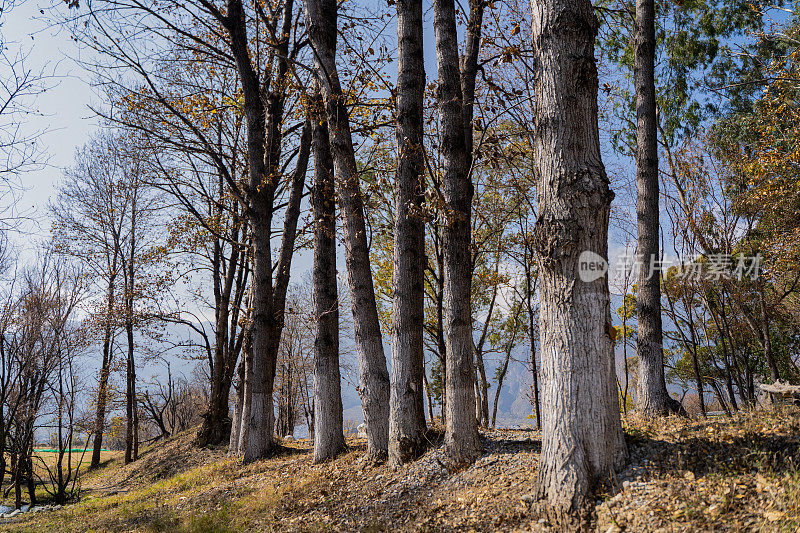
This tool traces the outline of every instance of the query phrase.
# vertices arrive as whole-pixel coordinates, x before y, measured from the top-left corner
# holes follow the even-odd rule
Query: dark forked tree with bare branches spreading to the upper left
[[[143,83],[148,101],[169,112],[191,131],[191,148],[224,174],[230,194],[241,203],[247,217],[252,251],[252,316],[248,333],[252,364],[244,368],[243,382],[250,386],[242,389],[243,407],[239,414],[249,414],[234,424],[246,426],[237,431],[236,449],[244,461],[251,462],[273,449],[276,359],[307,165],[307,158],[304,161],[298,156],[294,172],[287,171],[289,162],[303,153],[302,150],[285,152],[292,146],[289,133],[296,132],[302,139],[304,132],[296,124],[289,124],[286,102],[297,88],[289,80],[295,74],[295,59],[305,40],[298,34],[302,26],[295,23],[299,10],[292,0],[279,2],[269,10],[241,0],[222,4],[198,0],[155,8],[138,2],[105,0],[88,5],[90,13],[84,15],[87,30],[77,30],[77,37],[111,59],[115,66],[134,74]],[[253,21],[258,21],[260,28],[255,34],[249,31]],[[75,25],[79,26],[84,25]],[[225,173],[228,167],[219,160],[214,136],[186,116],[183,99],[171,92],[174,85],[163,83],[164,71],[154,68],[154,59],[159,56],[159,48],[154,44],[181,46],[199,60],[236,72],[240,96],[226,105],[241,106],[245,118],[245,179],[238,180]],[[124,88],[128,80],[126,76],[103,76],[101,81],[104,85]],[[169,142],[169,136],[156,137]],[[310,143],[309,131],[305,131],[305,138]],[[284,195],[288,198],[282,203]],[[282,238],[273,262],[272,224],[281,212]]]

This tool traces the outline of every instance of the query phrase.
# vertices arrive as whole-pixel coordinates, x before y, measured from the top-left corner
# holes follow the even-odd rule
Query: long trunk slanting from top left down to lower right
[[[364,204],[361,198],[350,118],[336,70],[337,2],[306,0],[308,35],[331,140],[339,205],[344,214],[345,263],[350,285],[359,392],[367,430],[367,457],[385,460],[389,445],[389,372],[383,353],[378,308],[370,270]],[[315,418],[319,413],[315,413]]]

